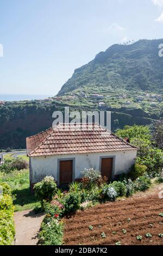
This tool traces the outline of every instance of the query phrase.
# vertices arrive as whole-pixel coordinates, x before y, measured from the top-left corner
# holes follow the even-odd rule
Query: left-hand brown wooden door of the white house
[[[73,160],[60,161],[60,185],[72,182]]]

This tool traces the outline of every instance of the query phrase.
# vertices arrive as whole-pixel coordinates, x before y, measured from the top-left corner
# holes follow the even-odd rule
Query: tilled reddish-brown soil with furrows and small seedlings
[[[163,237],[158,236],[163,233],[161,212],[163,199],[156,192],[78,211],[64,218],[65,245],[115,245],[118,241],[121,245],[163,245]],[[89,226],[93,229],[89,230]],[[122,229],[127,233],[123,234]],[[147,233],[152,238],[147,238]],[[142,236],[141,241],[136,239],[138,235]]]

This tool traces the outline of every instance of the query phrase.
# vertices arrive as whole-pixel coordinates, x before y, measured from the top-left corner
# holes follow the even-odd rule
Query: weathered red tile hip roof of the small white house
[[[28,156],[137,150],[98,124],[59,124],[27,138]]]

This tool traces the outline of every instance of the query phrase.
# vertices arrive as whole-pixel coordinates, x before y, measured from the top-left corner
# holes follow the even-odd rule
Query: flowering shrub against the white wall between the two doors
[[[83,187],[91,189],[98,184],[98,181],[101,179],[101,177],[102,175],[99,170],[94,170],[93,168],[84,169],[82,179]]]

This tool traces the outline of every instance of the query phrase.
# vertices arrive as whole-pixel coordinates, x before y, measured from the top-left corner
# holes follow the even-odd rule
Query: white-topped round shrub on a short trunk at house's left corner
[[[57,191],[57,184],[52,176],[46,176],[41,182],[34,186],[35,196],[41,200],[43,209],[43,200],[51,201]]]

